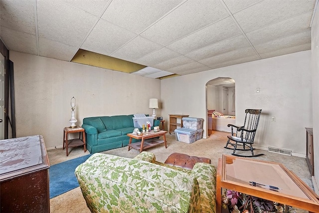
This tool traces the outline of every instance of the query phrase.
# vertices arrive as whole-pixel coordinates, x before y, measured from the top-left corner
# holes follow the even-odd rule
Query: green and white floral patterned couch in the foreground
[[[216,213],[216,169],[192,170],[157,162],[142,152],[134,159],[95,153],[75,175],[92,213]]]

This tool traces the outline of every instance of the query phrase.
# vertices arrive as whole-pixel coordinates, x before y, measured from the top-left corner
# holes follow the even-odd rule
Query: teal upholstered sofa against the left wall
[[[125,147],[129,144],[128,133],[134,130],[134,115],[115,115],[88,117],[83,119],[86,147],[93,154],[110,149]],[[160,121],[154,120],[154,126],[160,126]],[[132,143],[139,140],[133,139]]]

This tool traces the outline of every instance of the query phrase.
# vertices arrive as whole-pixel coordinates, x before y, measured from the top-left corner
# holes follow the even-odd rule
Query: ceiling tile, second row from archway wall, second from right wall
[[[224,54],[206,58],[206,59],[200,60],[199,62],[209,67],[213,67],[214,64],[220,64],[226,61],[233,61],[236,59],[244,58],[245,56],[248,57],[248,56],[254,56],[254,55],[257,55],[257,53],[254,51],[252,47],[245,47],[242,49],[234,50],[232,52],[226,52]]]

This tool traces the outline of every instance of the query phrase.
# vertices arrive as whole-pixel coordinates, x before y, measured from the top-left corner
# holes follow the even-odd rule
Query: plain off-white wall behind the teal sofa
[[[43,135],[47,149],[62,147],[76,98],[78,126],[90,116],[152,114],[160,80],[10,51],[14,63],[17,137]],[[156,110],[160,116],[160,109]]]

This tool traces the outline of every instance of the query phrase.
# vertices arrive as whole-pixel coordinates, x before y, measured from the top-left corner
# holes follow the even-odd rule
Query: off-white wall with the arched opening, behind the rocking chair
[[[262,109],[256,148],[287,149],[305,157],[305,127],[313,122],[310,50],[161,80],[164,119],[168,120],[168,114],[204,118],[206,137],[205,85],[217,77],[236,82],[238,125],[245,109]],[[271,122],[271,117],[276,117],[276,122]]]

